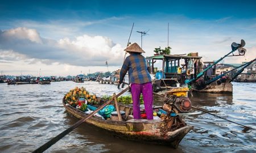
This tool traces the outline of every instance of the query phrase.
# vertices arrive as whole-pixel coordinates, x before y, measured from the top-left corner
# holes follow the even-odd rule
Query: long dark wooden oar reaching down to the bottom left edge
[[[119,94],[115,95],[115,97],[119,97],[121,96],[123,93],[125,93],[127,90],[129,90],[129,87],[125,88],[125,90],[121,91]],[[98,111],[100,111],[102,108],[104,108],[106,105],[110,104],[111,101],[114,100],[114,96],[112,97],[112,99],[110,99],[109,101],[107,101],[105,104],[101,105],[100,107],[98,107],[95,111],[93,111],[92,113],[89,114],[89,116],[82,118],[80,121],[76,122],[75,124],[73,124],[70,128],[66,129],[65,131],[63,131],[62,133],[60,133],[59,135],[57,135],[56,137],[52,138],[50,141],[48,141],[47,143],[44,143],[43,146],[37,148],[35,151],[33,152],[44,152],[46,151],[49,147],[51,147],[52,145],[54,145],[57,141],[59,141],[61,138],[65,137],[65,135],[67,135],[68,133],[70,133],[72,130],[76,129],[79,125],[81,125],[84,121],[88,120],[90,117],[92,117],[94,114],[96,114]]]

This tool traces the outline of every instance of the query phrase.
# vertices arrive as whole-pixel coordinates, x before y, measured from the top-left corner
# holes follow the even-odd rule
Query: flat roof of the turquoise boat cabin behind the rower
[[[195,59],[201,59],[202,57],[200,56],[185,56],[185,55],[179,55],[179,54],[163,54],[163,55],[158,55],[158,56],[150,56],[150,57],[146,57],[146,59],[191,59],[191,58],[195,58]]]

